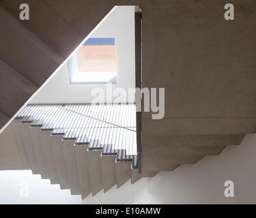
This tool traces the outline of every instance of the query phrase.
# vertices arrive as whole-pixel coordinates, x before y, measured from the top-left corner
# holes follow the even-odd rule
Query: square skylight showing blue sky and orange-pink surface
[[[70,60],[70,82],[116,83],[115,38],[89,38]]]

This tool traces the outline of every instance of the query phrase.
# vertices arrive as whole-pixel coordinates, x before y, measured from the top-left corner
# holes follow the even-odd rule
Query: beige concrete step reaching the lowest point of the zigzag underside
[[[82,199],[91,193],[91,181],[89,177],[89,165],[87,157],[87,144],[75,144],[76,167],[79,174]]]

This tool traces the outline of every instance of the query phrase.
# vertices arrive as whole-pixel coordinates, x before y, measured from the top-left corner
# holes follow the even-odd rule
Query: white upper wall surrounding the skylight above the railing
[[[134,6],[115,7],[91,37],[115,37],[117,84],[113,89],[122,87],[128,93],[129,87],[135,87]],[[104,84],[70,85],[68,67],[64,65],[31,103],[90,103],[94,98],[90,95],[94,87],[106,89]],[[133,98],[128,100],[134,102]]]

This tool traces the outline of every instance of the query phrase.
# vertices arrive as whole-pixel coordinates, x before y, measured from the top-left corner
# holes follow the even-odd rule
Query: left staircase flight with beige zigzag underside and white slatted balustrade
[[[89,193],[94,196],[101,189],[106,192],[114,185],[118,189],[129,179],[134,183],[141,178],[137,155],[130,155],[135,153],[132,146],[136,148],[136,133],[130,131],[134,128],[119,125],[132,126],[133,109],[134,105],[29,105],[8,131],[16,140],[24,169],[85,198]],[[88,116],[91,112],[96,112],[93,118]]]

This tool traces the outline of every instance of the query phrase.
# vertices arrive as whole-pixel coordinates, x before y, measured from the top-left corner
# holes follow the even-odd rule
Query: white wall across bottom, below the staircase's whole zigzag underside
[[[173,172],[160,172],[152,178],[130,181],[116,190],[87,196],[83,202],[70,191],[50,185],[48,180],[25,172],[0,172],[0,204],[252,204],[256,203],[256,134],[248,134],[240,146],[229,146],[221,155],[183,165]],[[225,198],[224,183],[233,181],[235,197]],[[19,196],[20,182],[27,181],[30,197]]]

